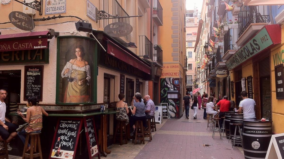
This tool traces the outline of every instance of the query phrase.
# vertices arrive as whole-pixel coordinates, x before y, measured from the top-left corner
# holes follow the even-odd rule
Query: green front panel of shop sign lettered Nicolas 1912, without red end
[[[273,42],[266,28],[263,28],[257,35],[247,42],[247,44],[235,52],[234,55],[225,62],[228,70],[232,70],[272,44]]]

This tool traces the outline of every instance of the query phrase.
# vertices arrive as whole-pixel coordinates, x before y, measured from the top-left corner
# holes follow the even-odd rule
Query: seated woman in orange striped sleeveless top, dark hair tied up
[[[18,111],[18,115],[23,118],[23,120],[29,123],[26,129],[18,132],[18,136],[20,139],[25,143],[26,140],[26,133],[38,133],[41,131],[42,128],[42,114],[48,116],[48,113],[41,108],[41,106],[37,106],[39,101],[35,96],[31,96],[28,98],[28,105],[30,106],[27,109],[27,116],[25,117],[20,111]],[[28,144],[27,151],[30,150],[30,144]]]

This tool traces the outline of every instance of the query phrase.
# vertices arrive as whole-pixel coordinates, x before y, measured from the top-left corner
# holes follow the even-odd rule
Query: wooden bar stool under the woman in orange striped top
[[[41,153],[41,145],[40,145],[40,138],[39,138],[39,133],[26,133],[26,141],[25,141],[25,146],[23,150],[23,157],[28,158],[34,158],[34,157],[40,157],[42,159],[42,153]],[[31,149],[30,149],[30,154],[28,154],[27,149],[28,149],[28,143],[29,139],[31,138]],[[36,151],[38,150],[38,152]]]

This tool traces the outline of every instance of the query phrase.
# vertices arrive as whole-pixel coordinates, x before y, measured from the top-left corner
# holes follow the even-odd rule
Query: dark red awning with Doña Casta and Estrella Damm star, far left
[[[0,51],[47,48],[49,31],[0,35]]]

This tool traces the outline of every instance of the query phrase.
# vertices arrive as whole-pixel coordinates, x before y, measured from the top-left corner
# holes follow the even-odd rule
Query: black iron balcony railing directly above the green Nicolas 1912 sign
[[[261,9],[265,10],[265,9]],[[269,23],[269,15],[266,12],[260,13],[259,7],[257,6],[245,6],[241,7],[238,14],[239,21],[239,37],[245,32],[251,23]]]

